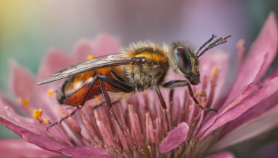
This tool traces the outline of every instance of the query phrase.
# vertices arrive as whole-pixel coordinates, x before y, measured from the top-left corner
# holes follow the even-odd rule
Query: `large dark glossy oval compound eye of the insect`
[[[188,51],[183,48],[177,48],[174,50],[174,59],[177,62],[177,65],[179,67],[179,70],[186,74],[189,75],[192,71],[192,65],[191,65],[191,60]]]

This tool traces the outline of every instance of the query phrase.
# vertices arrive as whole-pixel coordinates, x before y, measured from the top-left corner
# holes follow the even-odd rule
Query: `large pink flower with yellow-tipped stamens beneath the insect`
[[[118,42],[109,35],[99,35],[95,41],[81,40],[72,56],[63,51],[49,51],[38,78],[11,62],[10,89],[15,99],[9,102],[0,98],[0,122],[24,140],[44,149],[41,153],[49,150],[71,157],[210,155],[277,127],[278,69],[261,79],[275,59],[277,35],[277,21],[272,12],[245,59],[244,41],[238,42],[238,72],[233,82],[227,80],[228,53],[216,51],[202,55],[201,84],[194,86],[193,91],[202,105],[218,109],[218,114],[199,109],[186,88],[177,88],[172,107],[167,105],[171,129],[167,137],[163,110],[152,90],[113,106],[127,137],[122,136],[105,106],[95,111],[90,109],[97,100],[89,100],[82,110],[61,125],[44,130],[49,121],[58,121],[72,109],[56,101],[55,89],[61,81],[45,86],[35,86],[35,83],[60,68],[86,60],[90,53],[95,56],[116,53]],[[171,74],[167,80],[177,78],[181,76]],[[169,89],[163,89],[162,93],[168,103]],[[35,109],[38,111],[33,111]],[[54,156],[52,152],[47,153],[49,157]],[[222,152],[211,157],[234,156]]]

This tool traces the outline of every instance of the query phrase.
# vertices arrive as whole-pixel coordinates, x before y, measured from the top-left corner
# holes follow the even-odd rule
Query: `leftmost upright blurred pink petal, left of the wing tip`
[[[32,73],[24,66],[18,64],[15,60],[10,64],[9,87],[17,98],[30,98],[32,89],[35,85],[35,79]]]

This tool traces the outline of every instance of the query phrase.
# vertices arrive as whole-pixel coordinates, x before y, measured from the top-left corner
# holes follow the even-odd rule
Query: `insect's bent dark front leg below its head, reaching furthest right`
[[[165,87],[165,88],[176,88],[176,87],[184,87],[184,86],[188,87],[190,97],[193,98],[194,102],[201,109],[204,109],[206,111],[214,111],[214,112],[218,113],[218,110],[216,110],[216,109],[206,108],[206,107],[203,107],[202,105],[199,104],[198,100],[195,98],[195,96],[193,94],[193,90],[192,90],[188,81],[186,81],[186,80],[170,80],[169,82],[166,82],[165,84],[163,84],[163,87]]]

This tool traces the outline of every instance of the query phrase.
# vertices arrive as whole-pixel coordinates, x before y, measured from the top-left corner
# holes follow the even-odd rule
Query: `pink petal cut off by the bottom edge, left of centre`
[[[67,155],[69,157],[74,158],[83,158],[83,157],[113,157],[105,150],[101,150],[99,148],[93,148],[90,146],[78,146],[78,147],[72,147],[72,148],[64,148],[59,150],[58,152],[63,153],[64,155]]]

